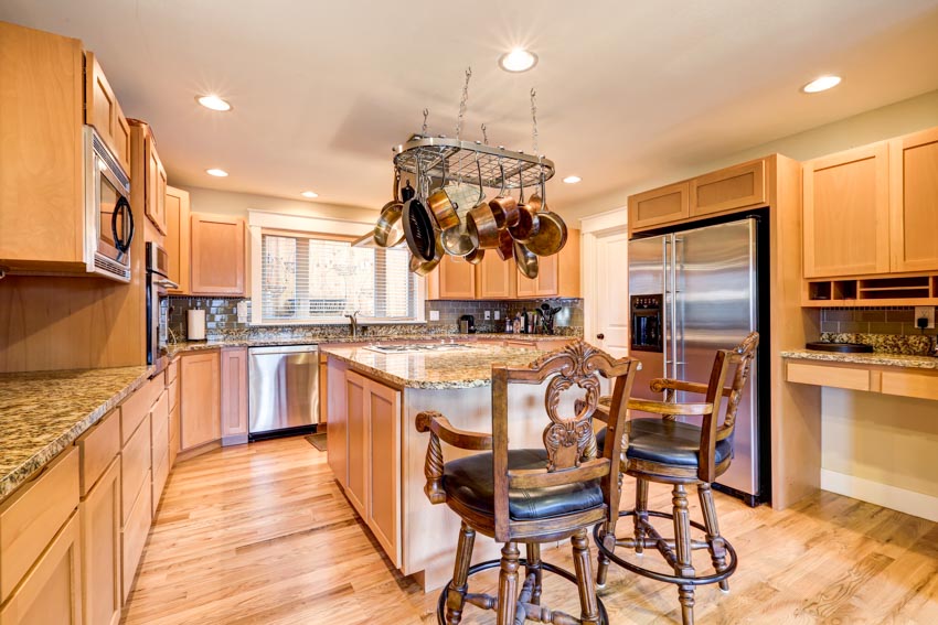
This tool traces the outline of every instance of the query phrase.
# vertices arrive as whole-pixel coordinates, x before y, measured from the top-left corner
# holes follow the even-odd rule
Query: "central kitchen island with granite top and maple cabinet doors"
[[[542,354],[484,344],[392,354],[369,346],[323,349],[329,465],[388,559],[427,591],[452,576],[459,517],[424,495],[429,434],[417,432],[414,420],[436,410],[457,428],[491,431],[492,365],[523,366]],[[511,389],[512,445],[543,445],[544,390]],[[471,453],[443,448],[446,460]],[[473,561],[497,558],[499,549],[479,536]]]

